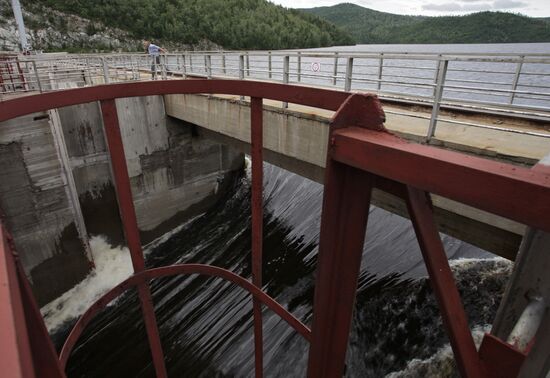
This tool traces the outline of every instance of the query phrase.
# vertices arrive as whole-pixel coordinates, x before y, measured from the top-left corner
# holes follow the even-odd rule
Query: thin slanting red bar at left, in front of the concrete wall
[[[128,168],[126,166],[122,136],[120,135],[115,100],[102,100],[101,112],[103,114],[105,137],[109,146],[111,167],[113,169],[115,190],[124,234],[126,235],[126,242],[128,244],[128,248],[130,249],[134,272],[141,272],[145,269],[145,260],[141,249],[136,211],[134,209],[132,189],[130,186],[130,178],[128,176]],[[145,321],[149,346],[151,347],[155,371],[157,377],[166,377],[167,374],[166,367],[164,365],[164,353],[162,352],[162,344],[160,342],[149,285],[147,283],[138,285],[137,290],[139,293],[141,310]]]

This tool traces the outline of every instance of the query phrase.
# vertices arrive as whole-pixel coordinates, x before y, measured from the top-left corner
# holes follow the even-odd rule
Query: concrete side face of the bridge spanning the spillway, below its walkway
[[[165,101],[168,115],[204,128],[210,138],[243,150],[249,148],[248,102],[231,96],[206,95],[167,95]],[[264,101],[265,160],[322,183],[331,116],[332,112],[320,109],[297,105],[282,109],[280,102]],[[400,135],[415,139],[405,133]],[[432,199],[442,232],[500,256],[515,258],[525,226],[440,196],[432,195]],[[387,193],[375,190],[373,203],[408,216],[404,203]]]

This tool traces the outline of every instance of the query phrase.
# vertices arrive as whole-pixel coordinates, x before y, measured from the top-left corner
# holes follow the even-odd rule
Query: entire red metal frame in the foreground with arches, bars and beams
[[[251,97],[252,282],[224,269],[205,265],[145,269],[114,99],[178,93]],[[261,289],[262,98],[337,110],[329,137],[311,331]],[[105,294],[79,319],[63,347],[59,362],[54,361],[54,356],[46,354],[38,363],[33,354],[33,350],[37,350],[36,345],[41,344],[45,350],[53,350],[53,347],[30,291],[19,289],[28,288],[21,270],[18,279],[14,279],[16,262],[10,260],[7,239],[0,232],[0,278],[6,285],[0,287],[0,300],[8,304],[0,311],[0,331],[8,330],[0,342],[4,350],[9,350],[1,358],[15,366],[13,376],[34,376],[36,372],[48,371],[41,369],[52,366],[54,370],[49,376],[63,376],[61,368],[65,367],[84,327],[101,308],[130,287],[137,287],[139,292],[157,376],[166,376],[148,281],[173,274],[220,277],[253,295],[257,377],[262,374],[262,303],[310,341],[308,376],[341,376],[373,188],[395,194],[407,203],[461,374],[469,377],[498,376],[501,371],[496,366],[499,357],[508,359],[508,372],[519,371],[525,355],[494,337],[486,336],[482,348],[476,351],[433,220],[428,193],[437,193],[550,231],[550,218],[547,216],[550,213],[550,176],[547,171],[529,170],[407,143],[384,129],[384,114],[375,96],[355,94],[348,97],[343,92],[273,83],[176,80],[71,89],[0,102],[0,122],[91,101],[101,102],[134,275]],[[537,203],[537,206],[530,206],[531,203]],[[24,321],[21,311],[25,314]],[[23,341],[19,342],[21,339]]]

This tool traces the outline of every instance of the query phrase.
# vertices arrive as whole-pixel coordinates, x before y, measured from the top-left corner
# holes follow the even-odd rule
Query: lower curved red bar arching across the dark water
[[[126,290],[139,285],[143,282],[154,278],[169,277],[178,274],[201,274],[210,277],[219,277],[224,280],[233,282],[234,284],[242,287],[244,290],[251,293],[254,298],[261,301],[273,312],[279,315],[284,321],[286,321],[292,328],[294,328],[300,335],[302,335],[307,341],[311,339],[311,331],[294,315],[288,312],[284,307],[277,303],[273,298],[263,292],[256,285],[248,281],[246,278],[241,277],[229,270],[219,268],[211,265],[203,264],[178,264],[165,266],[162,268],[147,269],[142,272],[136,273],[124,282],[118,284],[101,298],[99,298],[86,312],[78,319],[77,323],[71,330],[69,337],[63,345],[61,354],[59,356],[62,366],[67,364],[72,349],[74,348],[78,338],[84,331],[84,328],[92,321],[94,316],[105,308],[109,302],[124,293]]]

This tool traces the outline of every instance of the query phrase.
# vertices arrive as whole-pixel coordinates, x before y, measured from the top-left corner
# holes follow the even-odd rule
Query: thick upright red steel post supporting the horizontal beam
[[[373,177],[328,160],[308,377],[344,374]]]

